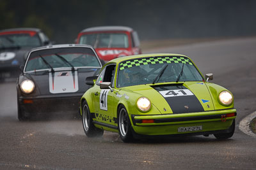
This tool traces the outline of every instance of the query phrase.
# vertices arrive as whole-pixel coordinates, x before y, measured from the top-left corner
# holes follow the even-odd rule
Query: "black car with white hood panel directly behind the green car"
[[[17,79],[19,120],[56,112],[79,115],[79,102],[90,88],[87,76],[99,73],[102,64],[88,45],[52,45],[34,48]],[[48,116],[47,116],[48,117]]]

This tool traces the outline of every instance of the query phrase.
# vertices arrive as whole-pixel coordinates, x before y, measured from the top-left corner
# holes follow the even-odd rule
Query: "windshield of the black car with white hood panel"
[[[52,48],[32,52],[28,57],[25,71],[61,67],[100,67],[100,62],[91,48]]]

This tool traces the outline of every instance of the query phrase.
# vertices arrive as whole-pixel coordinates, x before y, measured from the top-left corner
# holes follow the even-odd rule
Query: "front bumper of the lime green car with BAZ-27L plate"
[[[131,115],[132,129],[141,135],[217,134],[229,132],[236,109],[164,115]]]

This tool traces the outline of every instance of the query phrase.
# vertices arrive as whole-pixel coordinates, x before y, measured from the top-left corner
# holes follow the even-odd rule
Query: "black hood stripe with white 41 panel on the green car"
[[[202,104],[189,89],[182,84],[152,86],[167,101],[173,113],[193,113],[204,111]]]

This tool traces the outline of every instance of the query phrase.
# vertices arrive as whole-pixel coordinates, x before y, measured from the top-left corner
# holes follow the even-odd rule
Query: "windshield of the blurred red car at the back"
[[[125,33],[84,34],[80,44],[92,45],[93,48],[128,48],[128,37]]]

